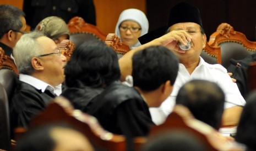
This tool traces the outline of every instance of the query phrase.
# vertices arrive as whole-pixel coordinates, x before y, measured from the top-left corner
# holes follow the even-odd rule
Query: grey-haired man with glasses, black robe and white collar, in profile
[[[11,126],[27,127],[31,118],[61,94],[66,57],[41,32],[24,34],[14,48],[20,82],[10,102]]]

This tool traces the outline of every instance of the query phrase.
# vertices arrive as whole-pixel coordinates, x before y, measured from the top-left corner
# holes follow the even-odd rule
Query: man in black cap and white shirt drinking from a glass
[[[119,59],[122,79],[132,73],[132,56],[136,51],[151,45],[164,45],[178,56],[179,72],[170,97],[162,103],[160,108],[151,108],[150,113],[153,121],[156,124],[165,121],[172,111],[177,92],[183,84],[192,79],[204,79],[219,84],[225,93],[225,111],[222,117],[222,125],[237,125],[242,106],[246,102],[224,67],[210,65],[200,57],[201,51],[205,47],[206,36],[198,8],[188,3],[177,4],[171,9],[167,29],[168,33],[164,36],[129,51]],[[148,35],[150,37],[147,37]],[[145,34],[145,38],[149,41],[152,39],[152,35],[148,35]],[[190,49],[182,50],[179,48],[179,43],[187,45],[187,41],[192,41]]]

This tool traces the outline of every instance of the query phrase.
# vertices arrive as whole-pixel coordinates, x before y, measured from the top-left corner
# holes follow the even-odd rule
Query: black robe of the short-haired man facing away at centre
[[[88,113],[105,130],[128,138],[148,135],[152,125],[149,107],[134,88],[113,82],[92,100]]]

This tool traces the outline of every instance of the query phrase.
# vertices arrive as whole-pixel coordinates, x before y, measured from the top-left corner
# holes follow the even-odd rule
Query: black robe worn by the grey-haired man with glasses
[[[30,120],[43,111],[53,98],[55,95],[50,91],[42,92],[19,81],[12,101],[9,102],[11,131],[18,126],[28,127]]]

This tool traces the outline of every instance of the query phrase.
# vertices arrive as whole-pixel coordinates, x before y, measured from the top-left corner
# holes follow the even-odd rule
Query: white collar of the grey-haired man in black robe
[[[19,80],[21,82],[25,82],[28,83],[32,86],[34,86],[36,89],[41,90],[42,92],[45,92],[45,89],[47,86],[51,86],[45,82],[43,82],[42,80],[39,80],[35,77],[32,77],[31,75],[27,75],[27,74],[19,74]],[[54,89],[54,92],[57,96],[61,95],[62,93],[62,88],[61,88],[62,84],[59,84],[57,86],[55,86],[53,88],[53,86],[51,86]]]

